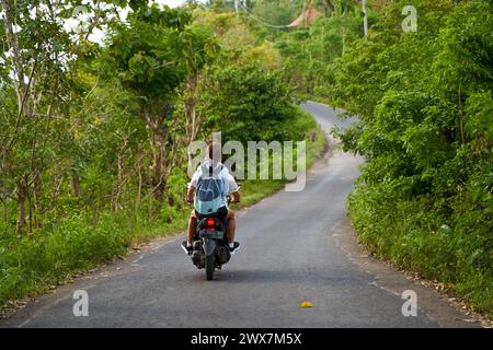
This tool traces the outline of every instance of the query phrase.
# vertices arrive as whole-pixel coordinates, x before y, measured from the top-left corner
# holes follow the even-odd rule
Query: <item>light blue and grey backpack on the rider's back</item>
[[[216,213],[219,208],[225,206],[222,197],[225,196],[225,180],[219,177],[223,165],[207,166],[207,172],[204,172],[204,164],[202,174],[197,180],[197,189],[195,194],[195,211],[202,215],[209,215]],[[217,171],[219,168],[219,171]]]

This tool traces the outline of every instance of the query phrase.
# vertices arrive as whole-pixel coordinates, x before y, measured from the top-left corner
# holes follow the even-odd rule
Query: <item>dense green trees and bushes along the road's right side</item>
[[[415,1],[416,33],[394,30],[400,4],[331,67],[329,95],[360,116],[339,135],[367,160],[351,219],[379,256],[491,313],[491,4]]]

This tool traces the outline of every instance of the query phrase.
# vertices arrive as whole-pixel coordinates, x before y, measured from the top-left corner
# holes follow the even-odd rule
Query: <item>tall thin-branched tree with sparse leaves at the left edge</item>
[[[0,168],[7,219],[10,217],[8,197],[13,192],[16,196],[18,233],[26,223],[28,232],[41,224],[36,212],[42,210],[42,179],[50,162],[50,151],[56,147],[51,138],[56,132],[53,119],[67,106],[70,89],[67,89],[66,72],[77,60],[79,44],[83,42],[72,40],[74,33],[64,26],[77,4],[77,1],[65,5],[50,1],[0,2],[3,14],[0,34],[5,48],[0,52],[0,89],[9,101],[3,109]],[[95,26],[91,25],[89,31]]]

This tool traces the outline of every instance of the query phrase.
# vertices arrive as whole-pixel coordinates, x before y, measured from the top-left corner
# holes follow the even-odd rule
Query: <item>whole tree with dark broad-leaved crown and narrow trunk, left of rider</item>
[[[171,131],[180,117],[173,110],[176,90],[186,78],[182,47],[190,21],[191,13],[183,9],[140,7],[129,14],[128,26],[114,26],[104,56],[106,74],[116,72],[138,101],[152,149],[152,186],[158,199],[164,195],[177,156],[179,135]]]

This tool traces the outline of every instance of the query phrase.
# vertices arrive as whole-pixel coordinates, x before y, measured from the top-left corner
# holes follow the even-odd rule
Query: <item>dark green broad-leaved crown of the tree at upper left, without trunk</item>
[[[118,24],[114,28],[110,57],[104,61],[107,74],[116,73],[144,98],[144,104],[171,98],[185,77],[180,35],[190,20],[187,11],[168,8],[162,11],[157,4],[131,13],[129,26]]]

